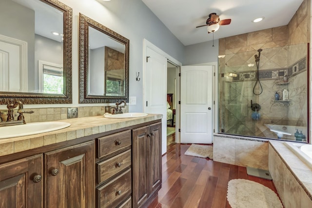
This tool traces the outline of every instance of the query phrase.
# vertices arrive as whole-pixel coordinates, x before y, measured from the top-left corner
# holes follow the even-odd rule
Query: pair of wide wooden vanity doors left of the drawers
[[[94,141],[0,165],[0,208],[93,208]]]

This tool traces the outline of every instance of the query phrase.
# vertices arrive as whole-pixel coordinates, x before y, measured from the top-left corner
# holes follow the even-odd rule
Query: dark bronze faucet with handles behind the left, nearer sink
[[[14,120],[14,108],[19,106],[18,113],[20,114],[17,118],[17,120]],[[33,113],[34,111],[29,110],[26,111],[23,109],[23,104],[20,101],[16,101],[14,103],[14,100],[10,100],[9,104],[6,105],[8,109],[8,117],[6,119],[6,122],[3,122],[2,119],[0,120],[0,126],[6,126],[6,125],[20,125],[20,124],[26,124],[25,118],[23,113]],[[3,114],[3,112],[1,113]],[[0,116],[1,116],[0,114]]]

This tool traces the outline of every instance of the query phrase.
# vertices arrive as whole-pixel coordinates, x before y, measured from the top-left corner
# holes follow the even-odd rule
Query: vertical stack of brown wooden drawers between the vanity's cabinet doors
[[[131,130],[97,138],[97,144],[97,207],[131,207]]]

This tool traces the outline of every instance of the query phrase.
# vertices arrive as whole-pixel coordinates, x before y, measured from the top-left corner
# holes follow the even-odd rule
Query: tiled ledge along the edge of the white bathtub
[[[297,157],[292,150],[285,146],[284,142],[270,141],[269,143],[284,161],[287,168],[292,172],[297,182],[306,189],[310,198],[312,198],[312,169]]]

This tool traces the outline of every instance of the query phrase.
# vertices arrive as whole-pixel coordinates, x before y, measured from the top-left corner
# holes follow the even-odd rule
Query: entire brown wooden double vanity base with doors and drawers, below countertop
[[[161,120],[0,157],[0,208],[147,207],[161,187]]]

